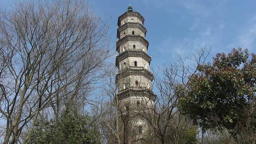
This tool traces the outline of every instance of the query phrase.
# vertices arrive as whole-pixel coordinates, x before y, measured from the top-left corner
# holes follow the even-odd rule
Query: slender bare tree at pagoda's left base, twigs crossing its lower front
[[[93,116],[97,118],[95,121],[100,127],[104,144],[128,144],[129,141],[139,140],[136,139],[137,123],[133,121],[139,114],[132,114],[132,107],[125,108],[118,92],[120,87],[128,88],[130,80],[117,81],[116,73],[115,68],[109,71],[107,82],[102,87],[101,96],[105,99],[97,101],[93,107]]]

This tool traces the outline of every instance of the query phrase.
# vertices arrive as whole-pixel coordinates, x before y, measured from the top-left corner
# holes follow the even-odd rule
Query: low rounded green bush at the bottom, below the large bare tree
[[[101,144],[101,139],[87,116],[67,112],[59,121],[38,123],[25,144]]]

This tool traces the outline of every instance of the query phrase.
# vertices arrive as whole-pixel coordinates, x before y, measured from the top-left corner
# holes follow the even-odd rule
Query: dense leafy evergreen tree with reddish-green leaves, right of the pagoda
[[[198,65],[187,87],[176,91],[182,112],[204,129],[238,131],[255,101],[256,55],[249,57],[247,49],[239,48],[217,54],[212,64]]]

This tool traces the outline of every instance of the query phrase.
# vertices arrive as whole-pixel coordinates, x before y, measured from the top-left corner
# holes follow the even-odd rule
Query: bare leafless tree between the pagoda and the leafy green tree
[[[153,107],[144,107],[140,113],[145,117],[154,133],[155,143],[179,144],[184,140],[182,133],[189,122],[178,110],[179,89],[186,87],[188,76],[197,72],[197,65],[205,63],[210,51],[205,47],[191,57],[179,55],[174,64],[170,64],[161,69],[161,76],[155,78],[155,88],[157,98]],[[145,115],[144,111],[151,111]]]

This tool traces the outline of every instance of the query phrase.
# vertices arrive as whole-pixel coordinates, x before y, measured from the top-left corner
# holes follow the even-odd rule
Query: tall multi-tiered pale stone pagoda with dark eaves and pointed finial
[[[141,144],[148,137],[148,122],[156,95],[152,91],[154,75],[150,72],[151,56],[144,18],[129,5],[118,17],[116,75],[122,143]],[[125,135],[125,136],[124,136]]]

